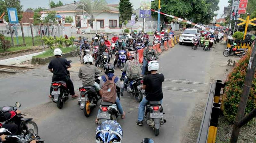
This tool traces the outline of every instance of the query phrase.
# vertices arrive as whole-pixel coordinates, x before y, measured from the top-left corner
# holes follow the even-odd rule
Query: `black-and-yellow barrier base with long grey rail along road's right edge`
[[[219,102],[221,88],[225,88],[225,84],[222,84],[221,80],[217,80],[211,85],[197,143],[215,143],[221,106]]]

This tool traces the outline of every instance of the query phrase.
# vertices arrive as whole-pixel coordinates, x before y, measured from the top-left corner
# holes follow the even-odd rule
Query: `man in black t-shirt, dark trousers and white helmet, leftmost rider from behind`
[[[52,82],[65,81],[67,84],[67,88],[69,89],[69,94],[72,95],[72,98],[76,98],[77,95],[75,95],[73,82],[71,81],[67,73],[67,68],[71,67],[70,63],[65,58],[61,58],[62,51],[59,48],[55,49],[53,54],[55,58],[52,59],[52,61],[48,65],[49,71],[53,72]],[[52,98],[51,92],[52,86],[50,88],[49,98]]]

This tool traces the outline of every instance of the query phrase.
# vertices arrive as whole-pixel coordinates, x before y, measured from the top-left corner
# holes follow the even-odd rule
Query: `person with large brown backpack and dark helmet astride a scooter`
[[[119,80],[117,76],[114,75],[115,68],[112,63],[107,63],[104,65],[104,73],[100,80],[100,95],[101,99],[104,102],[115,103],[117,108],[119,109],[121,118],[125,118],[125,112],[123,111],[123,107],[121,102],[117,96],[116,87],[123,88],[123,84]],[[98,110],[98,114],[100,113],[100,109]],[[95,123],[98,123],[98,118],[96,118]]]

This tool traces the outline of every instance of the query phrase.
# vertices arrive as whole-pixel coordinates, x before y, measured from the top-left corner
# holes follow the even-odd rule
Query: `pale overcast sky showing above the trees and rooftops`
[[[63,4],[70,4],[73,3],[74,0],[61,0]],[[79,1],[79,0],[76,0]],[[109,4],[118,4],[119,0],[106,0]],[[21,5],[23,5],[23,10],[25,11],[27,8],[37,8],[37,7],[44,7],[49,8],[49,0],[20,0]],[[59,2],[59,0],[53,0],[53,2]],[[130,0],[133,4],[133,8],[137,9],[140,5],[140,0]],[[217,16],[218,18],[223,13],[224,6],[228,6],[228,0],[220,0],[219,8],[220,10],[216,13],[219,13]]]

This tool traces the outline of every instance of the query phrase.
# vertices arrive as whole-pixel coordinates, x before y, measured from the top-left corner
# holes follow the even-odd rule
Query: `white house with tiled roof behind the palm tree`
[[[79,2],[76,4],[67,4],[56,8],[47,9],[44,11],[41,11],[42,15],[41,17],[45,17],[48,15],[49,12],[55,11],[56,12],[56,19],[59,21],[59,23],[63,22],[63,17],[71,16],[73,18],[73,23],[71,23],[73,26],[76,27],[88,27],[93,26],[90,25],[90,17],[86,12],[86,6],[83,9],[77,8],[79,6]],[[84,13],[84,15],[83,15]],[[117,8],[111,7],[109,5],[109,10],[106,12],[103,12],[95,17],[97,22],[100,22],[100,27],[105,28],[115,28],[119,27],[119,10]]]

